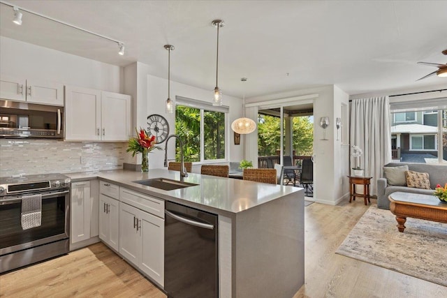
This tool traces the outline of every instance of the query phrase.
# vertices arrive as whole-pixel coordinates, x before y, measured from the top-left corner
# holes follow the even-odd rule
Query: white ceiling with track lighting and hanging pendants
[[[82,57],[126,66],[147,64],[153,75],[214,89],[217,29],[219,87],[242,97],[336,84],[348,94],[446,84],[447,1],[8,1],[125,43],[0,5],[0,34]],[[288,74],[288,75],[287,75]],[[248,77],[247,82],[240,82]]]

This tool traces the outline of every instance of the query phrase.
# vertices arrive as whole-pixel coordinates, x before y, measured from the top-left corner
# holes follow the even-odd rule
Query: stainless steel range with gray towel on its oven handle
[[[68,253],[70,184],[63,174],[0,177],[0,273]]]

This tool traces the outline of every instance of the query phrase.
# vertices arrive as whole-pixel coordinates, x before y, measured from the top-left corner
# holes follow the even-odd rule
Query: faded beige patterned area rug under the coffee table
[[[373,204],[336,253],[447,286],[447,224],[407,218],[403,233],[396,224]]]

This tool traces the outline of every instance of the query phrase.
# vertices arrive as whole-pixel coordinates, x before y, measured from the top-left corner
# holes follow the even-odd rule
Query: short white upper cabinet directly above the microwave
[[[64,84],[2,74],[0,76],[0,98],[63,106]]]

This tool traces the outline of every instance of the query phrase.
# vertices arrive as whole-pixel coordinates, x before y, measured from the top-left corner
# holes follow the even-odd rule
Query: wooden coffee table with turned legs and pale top
[[[396,192],[388,196],[390,211],[396,216],[397,230],[404,232],[407,217],[447,223],[447,204],[434,195]]]

